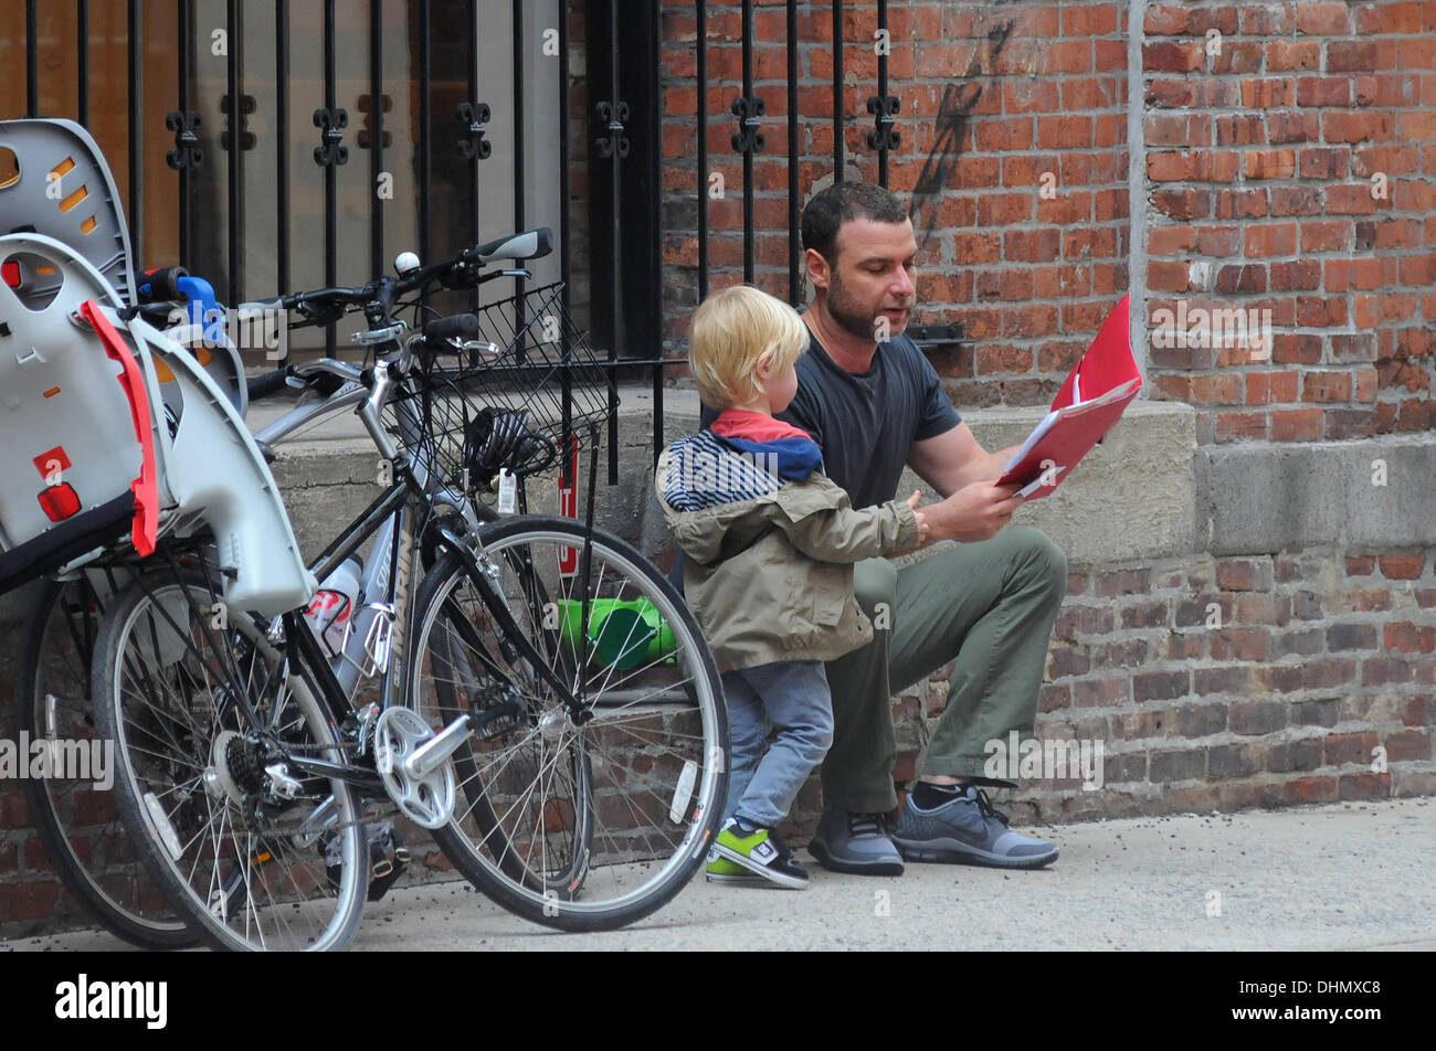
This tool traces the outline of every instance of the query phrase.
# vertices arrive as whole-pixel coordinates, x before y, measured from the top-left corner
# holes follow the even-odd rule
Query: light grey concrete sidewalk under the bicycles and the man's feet
[[[699,876],[656,915],[605,935],[537,928],[467,883],[405,889],[365,910],[353,948],[1436,949],[1429,798],[1032,831],[1061,844],[1053,867],[922,864],[876,879],[814,863],[801,893],[714,886]],[[0,943],[122,948],[103,933]]]

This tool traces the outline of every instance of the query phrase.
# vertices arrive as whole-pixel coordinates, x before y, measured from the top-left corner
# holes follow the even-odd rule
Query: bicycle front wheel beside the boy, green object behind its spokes
[[[632,923],[702,864],[728,788],[712,655],[633,547],[567,518],[478,533],[510,615],[582,705],[573,716],[500,637],[455,553],[425,576],[409,704],[429,725],[472,715],[460,798],[434,839],[498,905],[563,930]],[[584,571],[586,570],[586,571]],[[589,616],[584,623],[584,580]]]

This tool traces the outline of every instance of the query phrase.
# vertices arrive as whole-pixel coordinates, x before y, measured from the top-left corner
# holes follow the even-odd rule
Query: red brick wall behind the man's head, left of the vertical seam
[[[663,3],[665,316],[681,355],[698,299],[696,20]],[[1127,289],[1126,7],[889,4],[889,92],[900,99],[889,185],[912,195],[919,323],[961,322],[966,346],[936,362],[959,406],[1051,401]],[[754,159],[755,283],[787,297],[787,43],[781,4],[754,16],[754,92],[767,148]],[[844,157],[877,178],[875,3],[843,7]],[[740,4],[708,4],[711,287],[742,280],[742,162],[729,142],[741,93]],[[833,22],[798,14],[798,187],[833,172]],[[1044,181],[1044,177],[1045,178]],[[1043,192],[1048,187],[1048,192]],[[915,192],[916,191],[916,192]],[[803,293],[800,293],[801,296]]]

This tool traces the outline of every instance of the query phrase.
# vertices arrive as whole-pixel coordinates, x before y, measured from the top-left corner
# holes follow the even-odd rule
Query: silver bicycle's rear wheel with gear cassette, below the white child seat
[[[95,652],[96,721],[135,850],[169,903],[223,949],[342,949],[369,883],[360,810],[314,693],[247,616],[197,580],[136,581]]]

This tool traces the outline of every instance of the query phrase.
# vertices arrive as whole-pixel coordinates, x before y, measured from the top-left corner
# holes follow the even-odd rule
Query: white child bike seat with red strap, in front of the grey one
[[[307,604],[314,579],[274,478],[205,369],[125,322],[115,289],[60,241],[0,237],[0,264],[19,276],[0,281],[0,589],[126,534],[146,554],[158,536],[207,528],[228,606]]]

